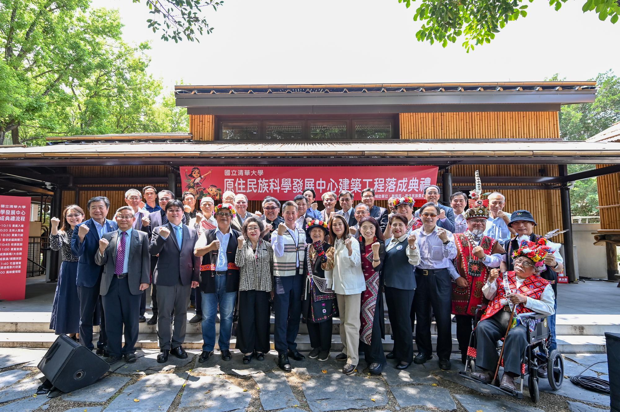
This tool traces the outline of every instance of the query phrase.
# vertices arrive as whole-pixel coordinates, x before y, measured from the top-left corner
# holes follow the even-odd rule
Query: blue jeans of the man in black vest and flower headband
[[[230,349],[232,315],[237,292],[226,292],[226,274],[215,276],[215,293],[200,292],[202,297],[202,350],[215,347],[215,317],[219,306],[219,350]]]

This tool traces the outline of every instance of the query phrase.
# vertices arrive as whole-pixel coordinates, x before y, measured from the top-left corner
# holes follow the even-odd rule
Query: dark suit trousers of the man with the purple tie
[[[112,278],[110,289],[101,297],[107,318],[108,351],[121,356],[135,353],[138,341],[138,316],[143,293],[132,295],[127,278]],[[125,327],[125,346],[122,346],[123,326]]]

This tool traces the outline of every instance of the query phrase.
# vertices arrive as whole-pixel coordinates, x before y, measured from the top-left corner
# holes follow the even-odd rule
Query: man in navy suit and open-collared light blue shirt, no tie
[[[97,354],[107,356],[107,335],[105,333],[105,315],[99,295],[101,273],[104,268],[95,262],[95,253],[99,250],[99,239],[118,229],[116,222],[106,219],[110,201],[105,196],[95,196],[86,207],[91,219],[77,225],[71,237],[71,252],[79,256],[78,261],[78,298],[79,298],[79,343],[94,349],[92,344],[92,325],[95,310],[100,308],[101,320]]]

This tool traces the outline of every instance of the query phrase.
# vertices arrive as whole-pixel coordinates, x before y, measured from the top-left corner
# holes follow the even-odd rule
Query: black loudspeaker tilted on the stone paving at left
[[[110,365],[67,335],[59,335],[38,364],[43,375],[64,393],[91,385]]]

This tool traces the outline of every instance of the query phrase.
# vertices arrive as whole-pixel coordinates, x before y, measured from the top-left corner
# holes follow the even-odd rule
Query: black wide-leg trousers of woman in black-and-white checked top
[[[239,291],[237,349],[267,353],[269,346],[269,292]]]

